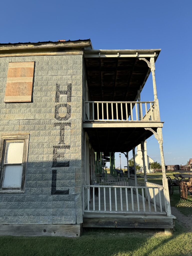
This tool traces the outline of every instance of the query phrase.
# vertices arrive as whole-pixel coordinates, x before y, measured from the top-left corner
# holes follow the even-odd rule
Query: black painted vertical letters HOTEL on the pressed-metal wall
[[[55,105],[55,119],[59,122],[54,123],[54,127],[59,126],[60,127],[60,140],[57,145],[53,146],[53,162],[52,162],[52,167],[57,168],[57,167],[69,167],[70,165],[70,160],[69,161],[62,161],[59,162],[58,159],[64,159],[65,156],[64,154],[60,154],[58,151],[61,150],[70,150],[70,145],[65,144],[65,128],[67,126],[71,127],[70,122],[63,122],[67,121],[71,117],[71,89],[72,85],[69,83],[67,85],[67,91],[61,91],[60,90],[60,84],[56,84],[56,94],[55,94],[55,102],[58,103]],[[67,103],[59,103],[60,100],[60,95],[65,94],[67,95]],[[60,108],[66,108],[67,109],[67,114],[64,117],[61,117],[59,115],[59,110]],[[57,184],[57,169],[52,170],[52,183],[51,183],[51,195],[54,194],[59,194],[59,195],[68,195],[69,194],[69,189],[68,190],[57,190],[56,189],[56,184]]]

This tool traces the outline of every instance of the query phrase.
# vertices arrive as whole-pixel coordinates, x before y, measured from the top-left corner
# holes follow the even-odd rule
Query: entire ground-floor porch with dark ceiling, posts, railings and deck
[[[122,152],[127,158],[133,152],[134,176],[105,177],[95,175],[92,183],[83,185],[83,227],[124,227],[124,228],[164,228],[172,233],[175,217],[171,214],[169,190],[162,158],[163,185],[147,181],[144,157],[144,141],[153,132],[161,139],[161,128],[154,130],[121,127],[86,129],[89,142],[95,152]],[[156,131],[156,132],[155,132]],[[141,143],[144,167],[144,184],[137,183],[135,147]],[[159,143],[160,153],[163,150]]]

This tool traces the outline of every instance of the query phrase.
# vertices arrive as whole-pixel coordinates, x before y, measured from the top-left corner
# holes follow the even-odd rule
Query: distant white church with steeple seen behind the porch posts
[[[147,142],[145,141],[144,149],[145,149],[146,172],[150,173],[149,163],[153,163],[155,161],[150,156],[147,155],[147,146],[146,145],[147,145]],[[133,157],[130,160],[133,160]],[[140,170],[142,170],[142,172],[143,172],[143,156],[142,156],[142,152],[141,152],[141,144],[137,146],[137,154],[135,155],[135,162],[137,163],[137,165],[139,165],[141,167]]]

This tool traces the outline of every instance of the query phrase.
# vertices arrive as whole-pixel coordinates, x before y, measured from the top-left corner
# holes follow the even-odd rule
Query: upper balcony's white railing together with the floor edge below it
[[[84,127],[163,126],[155,101],[85,101],[83,120]]]

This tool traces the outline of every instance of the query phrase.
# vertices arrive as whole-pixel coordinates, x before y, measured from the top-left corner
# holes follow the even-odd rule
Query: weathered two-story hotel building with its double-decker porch
[[[0,44],[0,234],[173,229],[155,83],[159,52],[93,50],[89,39]],[[150,72],[154,100],[142,102]],[[95,178],[95,152],[134,154],[141,144],[144,154],[152,134],[163,186],[147,182],[145,163],[143,187],[136,175]]]

